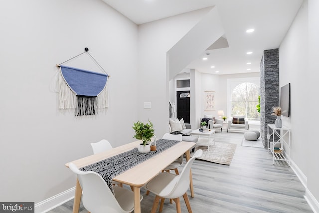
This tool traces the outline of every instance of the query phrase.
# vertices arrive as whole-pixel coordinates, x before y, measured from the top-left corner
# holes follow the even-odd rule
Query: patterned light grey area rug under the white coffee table
[[[197,146],[198,149],[203,150],[203,155],[197,159],[209,161],[216,164],[230,165],[233,159],[237,144],[215,142],[210,144],[209,151],[207,147]]]

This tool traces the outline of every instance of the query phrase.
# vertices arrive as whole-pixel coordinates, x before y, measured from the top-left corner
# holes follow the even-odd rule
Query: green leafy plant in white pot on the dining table
[[[140,121],[133,124],[132,127],[135,131],[134,138],[138,140],[142,140],[142,143],[140,144],[138,150],[140,153],[148,153],[150,152],[150,144],[148,144],[149,141],[151,141],[151,138],[154,136],[154,129],[153,124],[149,120],[149,123],[142,123]]]

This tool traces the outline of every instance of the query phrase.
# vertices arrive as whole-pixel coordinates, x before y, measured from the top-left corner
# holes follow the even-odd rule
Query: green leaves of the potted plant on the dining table
[[[135,131],[135,136],[133,136],[133,138],[142,140],[144,146],[148,143],[148,141],[151,141],[151,138],[154,136],[153,124],[150,120],[149,123],[146,124],[138,121],[133,124],[132,128]]]

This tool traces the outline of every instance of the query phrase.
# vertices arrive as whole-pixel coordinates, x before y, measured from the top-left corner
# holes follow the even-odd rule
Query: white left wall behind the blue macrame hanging
[[[138,28],[100,0],[1,1],[0,26],[0,201],[37,203],[75,185],[64,164],[92,154],[90,142],[134,140]],[[51,83],[85,47],[111,75],[110,101],[75,117]]]

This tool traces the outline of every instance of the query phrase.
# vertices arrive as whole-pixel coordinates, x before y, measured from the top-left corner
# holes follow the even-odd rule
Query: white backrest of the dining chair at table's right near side
[[[185,167],[183,168],[183,171],[178,176],[178,180],[172,189],[171,193],[169,194],[169,197],[171,198],[179,198],[180,196],[184,195],[185,192],[189,188],[190,180],[189,180],[189,173],[192,164],[194,163],[195,159],[197,157],[200,157],[203,154],[203,150],[199,149],[197,150],[193,157],[190,158],[190,160],[186,163]]]

